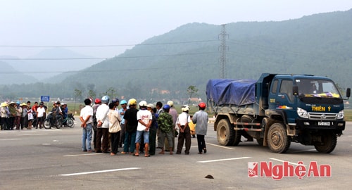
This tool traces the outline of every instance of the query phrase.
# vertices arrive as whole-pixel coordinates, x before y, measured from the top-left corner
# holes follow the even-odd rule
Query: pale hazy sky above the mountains
[[[68,49],[113,57],[187,23],[279,21],[351,8],[351,0],[0,0],[0,56],[50,48],[19,46],[91,45]]]

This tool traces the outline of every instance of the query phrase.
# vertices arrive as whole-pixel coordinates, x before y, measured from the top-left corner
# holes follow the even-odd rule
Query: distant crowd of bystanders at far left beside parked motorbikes
[[[44,127],[47,109],[43,102],[38,103],[37,101],[33,106],[31,106],[30,101],[27,101],[27,103],[20,103],[20,101],[2,102],[0,105],[1,130],[32,129],[32,127],[42,129],[42,127]],[[56,118],[65,118],[68,114],[67,104],[60,103],[60,101],[55,102],[51,112],[56,115]],[[52,122],[51,125],[53,125]]]

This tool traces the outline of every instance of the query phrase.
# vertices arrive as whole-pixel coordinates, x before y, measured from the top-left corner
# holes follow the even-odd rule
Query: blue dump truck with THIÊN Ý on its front
[[[346,89],[346,99],[351,89]],[[275,153],[291,142],[330,153],[345,129],[344,99],[328,77],[263,73],[259,80],[209,80],[208,108],[222,146],[241,137],[256,139]]]

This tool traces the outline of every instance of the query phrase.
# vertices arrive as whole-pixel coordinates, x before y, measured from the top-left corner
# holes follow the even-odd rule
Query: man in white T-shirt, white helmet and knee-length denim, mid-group
[[[140,110],[137,112],[137,134],[136,134],[136,153],[134,156],[139,156],[139,145],[141,139],[144,139],[144,156],[149,157],[149,128],[151,127],[151,112],[146,109],[146,101],[139,103]]]

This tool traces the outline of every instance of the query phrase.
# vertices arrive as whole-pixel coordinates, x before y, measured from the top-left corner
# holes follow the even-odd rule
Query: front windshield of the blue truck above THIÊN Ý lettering
[[[340,97],[334,82],[329,80],[296,79],[296,85],[300,96]]]

